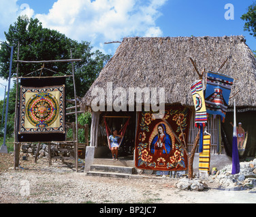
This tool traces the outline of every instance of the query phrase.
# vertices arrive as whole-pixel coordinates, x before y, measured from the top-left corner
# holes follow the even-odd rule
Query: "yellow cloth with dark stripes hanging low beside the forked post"
[[[199,172],[210,173],[210,135],[204,135],[203,151],[199,153]]]

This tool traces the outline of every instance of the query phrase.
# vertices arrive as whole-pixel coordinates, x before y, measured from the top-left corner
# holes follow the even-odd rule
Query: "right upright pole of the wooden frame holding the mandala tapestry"
[[[72,58],[72,50],[70,49],[70,56]],[[76,160],[76,172],[78,172],[78,107],[76,101],[76,81],[75,81],[75,73],[74,73],[74,62],[71,62],[72,66],[72,75],[73,75],[73,85],[74,85],[74,97],[75,97],[75,111],[76,111],[76,141],[75,141],[75,160]]]

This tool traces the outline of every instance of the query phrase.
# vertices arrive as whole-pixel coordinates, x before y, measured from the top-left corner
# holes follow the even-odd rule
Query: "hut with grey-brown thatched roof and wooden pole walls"
[[[189,120],[187,120],[186,133],[189,149],[198,131],[194,123],[195,107],[190,86],[194,81],[199,79],[190,58],[196,60],[196,66],[199,72],[204,68],[206,72],[217,72],[221,64],[229,58],[219,73],[234,78],[234,85],[232,85],[230,93],[230,96],[233,97],[230,98],[228,104],[230,114],[227,112],[225,123],[221,123],[218,116],[216,118],[210,117],[208,120],[207,131],[212,135],[211,153],[230,155],[230,144],[228,144],[230,140],[228,136],[230,137],[229,132],[232,132],[232,127],[229,122],[233,121],[232,107],[234,99],[236,99],[237,109],[243,109],[241,113],[237,113],[237,121],[248,123],[248,127],[244,124],[243,127],[246,132],[250,131],[247,141],[248,145],[246,146],[248,150],[246,150],[245,155],[254,157],[256,137],[253,137],[253,134],[256,134],[256,128],[252,123],[256,121],[256,60],[253,52],[246,45],[246,40],[243,36],[124,38],[114,56],[103,68],[90,90],[85,94],[82,99],[82,106],[91,107],[95,98],[93,93],[95,87],[103,88],[104,93],[107,93],[107,83],[109,82],[112,83],[113,90],[117,87],[122,87],[127,93],[129,92],[129,87],[157,87],[157,90],[163,87],[165,90],[165,106],[189,108],[190,114],[187,116]],[[204,73],[203,80],[205,79],[206,73]],[[114,102],[116,96],[113,95],[111,97],[113,97],[111,100]],[[107,99],[106,96],[106,104],[107,100],[110,99]],[[145,100],[142,97],[142,105],[144,102]],[[131,109],[129,111],[128,105],[129,98],[127,94],[127,111],[125,115],[131,117],[131,119],[125,135],[127,136],[127,140],[129,140],[129,149],[134,149],[140,112],[136,114]],[[121,113],[122,111],[115,112],[113,110],[112,112],[108,112],[108,115],[124,115],[124,113],[122,115]],[[106,114],[106,111],[93,111],[91,125],[92,147],[107,146],[106,131],[103,124],[103,116]],[[240,120],[239,114],[243,114],[242,120]],[[118,121],[121,124],[125,123],[123,119],[118,119]],[[117,119],[113,121],[113,119],[108,118],[108,124],[110,126],[117,124],[118,121]],[[178,128],[176,129],[176,132],[178,132]],[[177,136],[179,136],[178,134]],[[172,144],[172,147],[174,147],[174,144]],[[140,147],[136,146],[136,149],[138,148],[140,149]],[[145,162],[146,160],[144,164]]]

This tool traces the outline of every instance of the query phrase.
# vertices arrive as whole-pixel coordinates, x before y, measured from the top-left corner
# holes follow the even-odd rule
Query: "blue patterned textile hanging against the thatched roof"
[[[208,114],[221,115],[223,122],[225,121],[233,81],[234,79],[227,75],[210,71],[207,73],[205,95],[206,111]]]

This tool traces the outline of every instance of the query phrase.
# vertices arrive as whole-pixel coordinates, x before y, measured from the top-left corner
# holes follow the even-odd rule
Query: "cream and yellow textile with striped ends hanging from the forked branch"
[[[195,104],[195,127],[199,127],[200,125],[205,126],[207,123],[207,113],[204,102],[202,80],[195,81],[191,85],[190,90]]]

